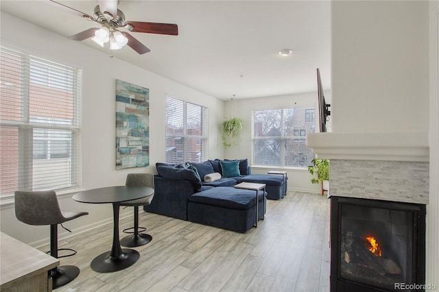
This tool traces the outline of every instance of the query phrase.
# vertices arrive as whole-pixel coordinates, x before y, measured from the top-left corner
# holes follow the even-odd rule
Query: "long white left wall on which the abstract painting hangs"
[[[62,64],[83,69],[82,104],[82,187],[84,189],[125,184],[130,172],[153,172],[155,163],[165,161],[165,96],[206,106],[209,110],[209,157],[223,155],[217,140],[222,121],[224,102],[196,90],[167,80],[154,73],[109,58],[81,42],[69,40],[25,21],[1,12],[1,42],[15,45],[25,51]],[[129,48],[126,48],[129,49]],[[150,167],[115,169],[115,80],[123,80],[150,88]],[[49,228],[27,226],[16,220],[13,204],[2,202],[1,231],[20,241],[37,246],[48,243]],[[79,231],[112,221],[110,204],[81,204],[70,195],[60,196],[63,210],[85,210],[90,214],[65,223],[67,228]],[[131,215],[132,208],[121,210],[121,216]],[[60,237],[66,234],[60,228]],[[110,245],[110,243],[109,243]]]

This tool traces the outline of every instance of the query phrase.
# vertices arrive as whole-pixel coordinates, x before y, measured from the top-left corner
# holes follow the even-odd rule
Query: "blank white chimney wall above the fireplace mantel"
[[[427,132],[428,1],[332,1],[333,132]]]

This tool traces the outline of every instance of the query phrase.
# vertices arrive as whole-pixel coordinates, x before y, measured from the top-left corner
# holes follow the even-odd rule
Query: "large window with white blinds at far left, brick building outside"
[[[78,188],[81,71],[0,53],[0,196]]]

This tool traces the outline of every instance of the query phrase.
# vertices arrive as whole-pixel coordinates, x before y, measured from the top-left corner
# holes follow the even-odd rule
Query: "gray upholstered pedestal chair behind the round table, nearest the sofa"
[[[128,173],[126,177],[126,186],[147,186],[154,189],[154,175],[151,173]],[[121,245],[125,247],[136,247],[152,241],[150,234],[140,233],[146,228],[139,228],[139,206],[149,205],[152,202],[154,193],[141,199],[133,199],[132,201],[121,202],[120,206],[134,207],[134,227],[126,228],[123,232],[132,233],[121,239]],[[129,230],[133,230],[130,232]]]

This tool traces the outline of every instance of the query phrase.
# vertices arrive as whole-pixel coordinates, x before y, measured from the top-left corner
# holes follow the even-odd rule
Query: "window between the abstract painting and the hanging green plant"
[[[166,162],[206,160],[206,108],[166,98]]]

